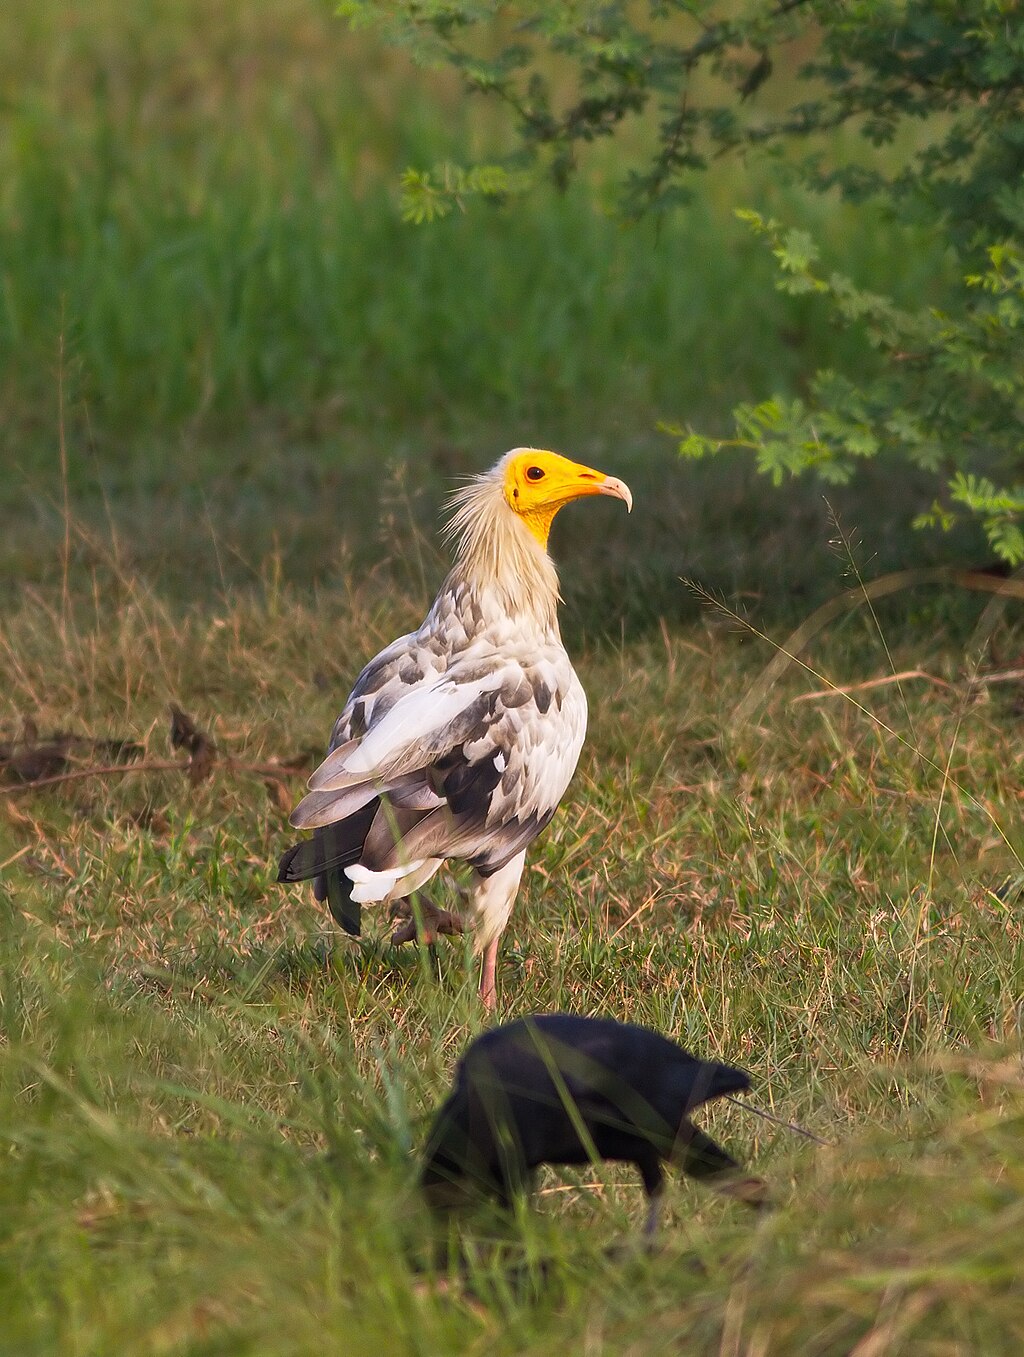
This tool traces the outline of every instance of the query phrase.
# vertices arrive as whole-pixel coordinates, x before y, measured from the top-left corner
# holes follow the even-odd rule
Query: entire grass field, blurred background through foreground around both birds
[[[970,543],[909,536],[929,486],[884,465],[837,531],[652,433],[853,354],[731,224],[783,190],[723,167],[661,233],[582,195],[414,232],[395,174],[500,126],[302,0],[39,0],[0,75],[0,744],[168,760],[175,702],[221,753],[0,783],[0,1353],[1016,1357],[1021,687],[978,678],[1020,670],[1020,603],[907,588],[764,683],[859,571]],[[802,210],[865,280],[941,267]],[[533,440],[637,506],[556,527],[590,734],[500,1015],[650,1023],[829,1144],[709,1109],[773,1213],[677,1181],[661,1250],[613,1254],[632,1174],[549,1174],[438,1278],[415,1148],[486,1025],[472,961],[342,939],[274,864],[441,577],[445,486]]]

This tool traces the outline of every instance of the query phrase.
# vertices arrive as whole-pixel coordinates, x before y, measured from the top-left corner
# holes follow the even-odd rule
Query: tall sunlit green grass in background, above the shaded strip
[[[3,438],[26,468],[53,446],[58,369],[104,465],[148,465],[155,441],[180,464],[176,438],[239,421],[420,440],[720,426],[857,351],[773,293],[736,206],[816,220],[907,299],[940,267],[924,236],[854,232],[735,166],[661,223],[605,217],[583,189],[414,229],[400,170],[500,147],[500,126],[308,0],[41,0],[0,19],[0,50]]]

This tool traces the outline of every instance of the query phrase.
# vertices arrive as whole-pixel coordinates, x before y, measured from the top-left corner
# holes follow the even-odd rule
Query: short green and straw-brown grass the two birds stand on
[[[243,760],[293,754],[423,601],[282,588],[175,616],[122,590],[7,616],[8,723],[163,757],[176,699]],[[1008,620],[987,662],[1020,646]],[[412,1156],[484,1023],[469,958],[336,938],[273,882],[289,830],[259,779],[0,801],[4,1350],[1019,1350],[1017,689],[972,692],[960,646],[903,628],[895,666],[952,687],[861,695],[902,740],[793,704],[799,669],[736,723],[769,647],[712,616],[579,655],[590,738],[532,855],[502,1016],[650,1023],[833,1143],[715,1110],[779,1210],[678,1185],[654,1257],[605,1253],[639,1229],[628,1172],[552,1174],[438,1285]],[[864,617],[807,658],[887,672]]]

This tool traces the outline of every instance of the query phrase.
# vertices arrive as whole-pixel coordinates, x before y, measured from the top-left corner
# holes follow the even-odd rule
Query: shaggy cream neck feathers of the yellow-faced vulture
[[[491,593],[505,613],[557,632],[559,577],[541,543],[509,508],[503,463],[475,476],[450,503],[445,536],[456,543],[456,560],[449,586],[465,584],[480,600]]]

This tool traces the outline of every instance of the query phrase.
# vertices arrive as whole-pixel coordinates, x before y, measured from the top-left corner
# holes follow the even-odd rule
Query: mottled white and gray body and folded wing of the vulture
[[[412,641],[361,674],[292,824],[332,825],[380,798],[366,810],[363,867],[456,856],[495,871],[562,799],[583,742],[583,689],[560,647],[503,655],[471,645],[438,672],[434,654],[410,653]]]

